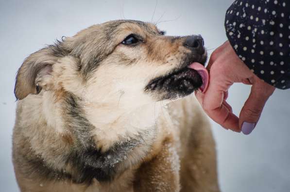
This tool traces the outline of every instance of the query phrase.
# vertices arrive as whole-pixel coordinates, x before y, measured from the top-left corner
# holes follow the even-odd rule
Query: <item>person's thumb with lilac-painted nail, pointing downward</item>
[[[256,127],[263,108],[268,98],[273,94],[275,88],[268,83],[254,77],[251,93],[239,114],[239,127],[248,135]]]

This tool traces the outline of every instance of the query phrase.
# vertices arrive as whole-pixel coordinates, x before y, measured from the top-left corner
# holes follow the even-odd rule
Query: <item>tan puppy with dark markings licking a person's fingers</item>
[[[219,192],[200,35],[115,20],[63,38],[17,72],[21,192]]]

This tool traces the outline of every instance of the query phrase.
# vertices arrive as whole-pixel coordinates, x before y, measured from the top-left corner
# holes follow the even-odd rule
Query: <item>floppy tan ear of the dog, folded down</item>
[[[17,99],[38,94],[52,83],[52,65],[60,58],[55,46],[40,49],[25,59],[18,69],[14,93]]]

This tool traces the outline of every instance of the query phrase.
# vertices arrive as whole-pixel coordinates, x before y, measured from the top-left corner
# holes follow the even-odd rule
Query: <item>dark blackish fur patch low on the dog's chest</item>
[[[132,139],[115,144],[106,152],[95,147],[72,152],[68,157],[68,163],[76,171],[72,180],[86,184],[90,184],[93,178],[101,182],[111,181],[118,173],[120,163],[139,144],[140,141]]]

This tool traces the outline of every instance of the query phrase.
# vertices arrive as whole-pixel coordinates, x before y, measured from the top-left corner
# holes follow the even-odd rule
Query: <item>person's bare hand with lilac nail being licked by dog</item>
[[[210,77],[208,89],[205,93],[195,92],[203,109],[223,128],[250,134],[275,88],[259,79],[239,59],[228,41],[212,53],[206,68]],[[251,93],[240,111],[239,118],[226,102],[228,89],[235,82],[252,85]]]

